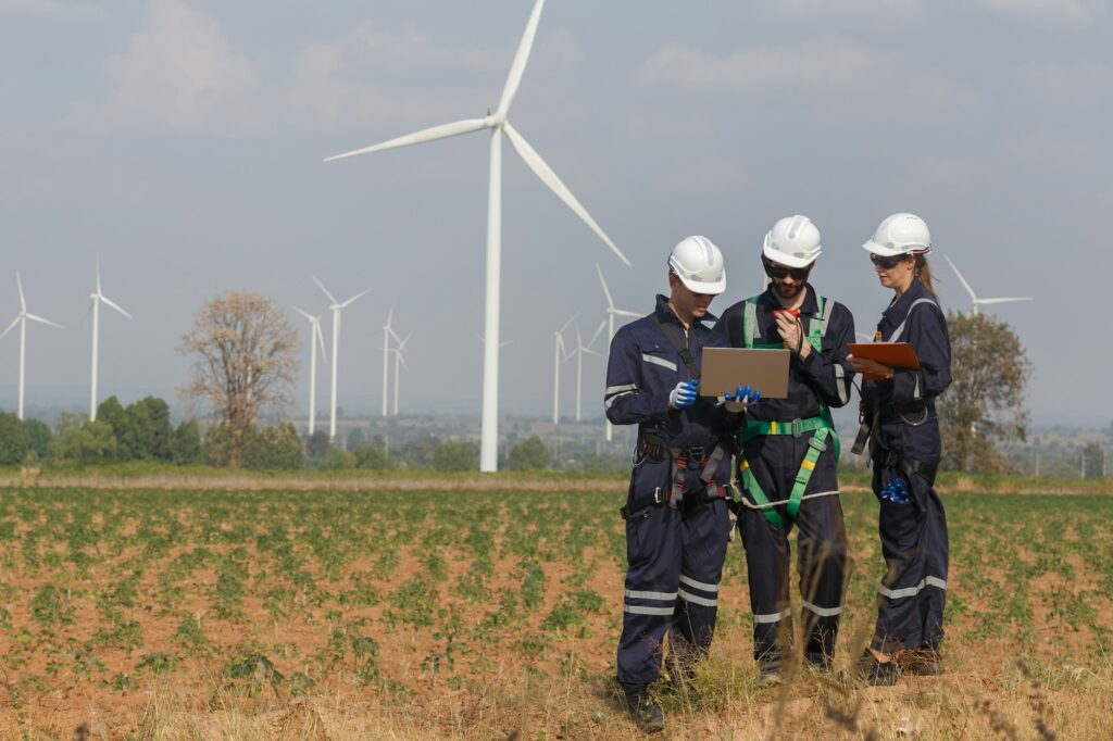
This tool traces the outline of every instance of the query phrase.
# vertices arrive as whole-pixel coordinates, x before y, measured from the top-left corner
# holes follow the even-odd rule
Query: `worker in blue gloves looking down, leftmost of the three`
[[[702,348],[726,345],[702,324],[726,288],[722,253],[688,237],[668,263],[670,295],[614,335],[604,395],[611,423],[638,425],[622,507],[629,569],[618,680],[627,710],[648,731],[663,725],[647,689],[660,675],[666,633],[673,679],[684,679],[711,643],[730,535],[730,429],[756,397],[741,387],[699,395]]]

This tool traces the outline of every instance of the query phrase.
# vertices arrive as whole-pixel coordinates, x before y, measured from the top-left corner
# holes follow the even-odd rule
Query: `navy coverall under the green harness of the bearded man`
[[[816,292],[808,284],[800,306],[804,342],[812,317],[819,313]],[[827,299],[828,302],[830,299]],[[777,320],[772,315],[781,308],[770,286],[758,297],[757,336],[754,344],[781,344]],[[745,347],[743,314],[746,302],[739,302],[722,314],[716,330],[727,337],[732,347]],[[828,324],[823,335],[823,352],[815,348],[808,357],[792,356],[789,365],[788,397],[762,398],[751,405],[749,419],[791,423],[819,416],[820,402],[828,407],[841,407],[850,398],[854,373],[846,362],[847,345],[854,342],[854,317],[841,304],[831,303]],[[762,435],[743,445],[742,457],[749,463],[758,485],[769,502],[789,498],[800,465],[808,452],[812,433],[801,435]],[[739,488],[743,488],[739,482]],[[838,491],[838,457],[835,435],[819,454],[804,495]],[[747,501],[755,503],[747,492]],[[754,655],[767,668],[776,668],[791,642],[789,609],[788,536],[794,524],[799,527],[797,570],[800,574],[801,618],[804,620],[805,656],[815,664],[827,665],[835,651],[839,616],[847,581],[846,528],[843,504],[838,495],[804,500],[796,521],[784,505],[776,507],[784,527],[776,527],[761,510],[746,507],[739,515],[738,527],[746,547],[746,565],[754,611]]]

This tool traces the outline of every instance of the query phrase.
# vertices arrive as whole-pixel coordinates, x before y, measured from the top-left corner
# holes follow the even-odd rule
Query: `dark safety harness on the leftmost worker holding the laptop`
[[[661,317],[656,313],[653,314],[653,323],[661,328],[661,333],[676,348],[677,353],[679,353],[680,359],[688,369],[688,379],[691,381],[698,377],[699,366],[696,364],[696,356],[688,349],[688,342],[683,330],[672,322],[662,322]],[[688,471],[689,468],[697,467],[700,470],[699,477],[703,484],[702,501],[726,498],[729,495],[729,490],[726,486],[715,483],[715,474],[719,470],[719,464],[729,454],[727,446],[722,443],[710,452],[703,446],[673,447],[663,437],[650,431],[640,441],[639,448],[643,456],[652,461],[663,461],[668,456],[671,462],[672,483],[663,492],[660,487],[653,491],[652,504],[667,503],[671,507],[679,507],[684,498],[684,480]],[[622,518],[626,520],[631,512],[641,508],[641,506],[646,505],[638,503],[634,506],[631,504],[630,507],[622,507],[619,512],[622,514]]]

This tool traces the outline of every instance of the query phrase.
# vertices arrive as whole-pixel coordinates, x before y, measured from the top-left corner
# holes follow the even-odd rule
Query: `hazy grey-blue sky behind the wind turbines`
[[[477,413],[487,136],[321,159],[496,107],[531,7],[0,0],[0,324],[18,269],[28,308],[66,325],[29,327],[29,408],[87,403],[99,255],[136,317],[101,316],[102,396],[173,398],[203,300],[323,313],[316,275],[342,299],[372,288],[344,316],[342,406],[377,411],[394,305],[403,411]],[[969,302],[943,254],[979,295],[1036,297],[995,310],[1035,365],[1034,421],[1107,424],[1111,27],[1109,0],[550,0],[510,119],[633,268],[504,147],[502,413],[550,408],[553,332],[603,318],[597,261],[649,312],[669,249],[703,234],[721,312],[759,286],[772,223],[806,214],[815,284],[870,333],[888,294],[860,245],[910,210],[946,306]],[[4,408],[18,345],[0,342]],[[584,363],[588,415],[603,365]]]

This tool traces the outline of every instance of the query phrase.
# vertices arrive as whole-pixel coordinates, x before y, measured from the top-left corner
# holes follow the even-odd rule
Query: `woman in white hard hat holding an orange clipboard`
[[[868,436],[886,565],[877,624],[858,661],[858,676],[869,684],[893,684],[898,665],[917,674],[943,671],[947,520],[934,487],[942,457],[935,398],[951,384],[951,339],[932,287],[932,237],[924,220],[894,214],[863,247],[880,284],[894,292],[874,339],[908,343],[920,365],[912,369],[848,358],[863,374],[863,429],[855,451]]]

